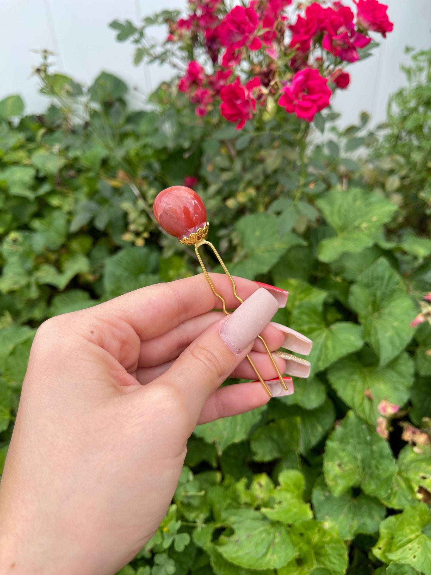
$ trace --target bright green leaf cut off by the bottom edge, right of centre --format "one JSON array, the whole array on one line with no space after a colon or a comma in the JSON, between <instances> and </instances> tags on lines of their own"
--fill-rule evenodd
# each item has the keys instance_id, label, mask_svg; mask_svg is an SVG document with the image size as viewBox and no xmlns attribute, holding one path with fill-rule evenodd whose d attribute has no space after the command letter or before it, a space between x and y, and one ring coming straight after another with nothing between
<instances>
[{"instance_id":1,"label":"bright green leaf cut off by the bottom edge, right of centre","mask_svg":"<svg viewBox=\"0 0 431 575\"><path fill-rule=\"evenodd\" d=\"M316 575L322 573L319 568L328 569L332 575L344 575L348 565L347 547L338 536L336 526L305 521L293 525L290 536L296 557L279 569L279 575Z\"/></svg>"}]
</instances>

